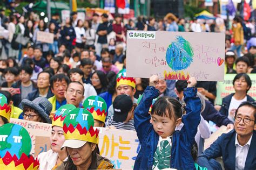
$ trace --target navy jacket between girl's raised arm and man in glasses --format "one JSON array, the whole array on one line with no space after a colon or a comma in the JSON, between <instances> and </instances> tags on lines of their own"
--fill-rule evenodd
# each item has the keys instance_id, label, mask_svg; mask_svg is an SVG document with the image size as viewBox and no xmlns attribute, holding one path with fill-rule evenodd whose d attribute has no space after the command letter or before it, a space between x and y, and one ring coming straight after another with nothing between
<instances>
[{"instance_id":1,"label":"navy jacket between girl's raised arm and man in glasses","mask_svg":"<svg viewBox=\"0 0 256 170\"><path fill-rule=\"evenodd\" d=\"M219 127L222 125L226 126L227 124L233 124L233 122L230 121L227 116L224 116L218 110L216 110L213 104L209 101L205 101L205 110L201 112L201 115L205 121L212 121Z\"/></svg>"}]
</instances>

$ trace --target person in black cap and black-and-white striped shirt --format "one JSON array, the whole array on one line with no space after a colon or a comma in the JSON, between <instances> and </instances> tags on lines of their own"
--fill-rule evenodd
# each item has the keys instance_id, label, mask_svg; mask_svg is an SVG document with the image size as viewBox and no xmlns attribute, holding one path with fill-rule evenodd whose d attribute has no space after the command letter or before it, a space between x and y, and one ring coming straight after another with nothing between
<instances>
[{"instance_id":1,"label":"person in black cap and black-and-white striped shirt","mask_svg":"<svg viewBox=\"0 0 256 170\"><path fill-rule=\"evenodd\" d=\"M119 95L114 99L114 114L106 120L106 127L114 129L135 130L133 112L137 104L133 104L128 95Z\"/></svg>"}]
</instances>

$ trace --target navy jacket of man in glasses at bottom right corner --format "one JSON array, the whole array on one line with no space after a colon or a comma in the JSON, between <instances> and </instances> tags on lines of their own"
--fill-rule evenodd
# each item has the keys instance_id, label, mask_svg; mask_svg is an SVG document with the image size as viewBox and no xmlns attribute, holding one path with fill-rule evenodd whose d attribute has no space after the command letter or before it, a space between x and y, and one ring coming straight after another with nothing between
<instances>
[{"instance_id":1,"label":"navy jacket of man in glasses at bottom right corner","mask_svg":"<svg viewBox=\"0 0 256 170\"><path fill-rule=\"evenodd\" d=\"M224 168L226 170L235 169L235 130L229 133L223 133L214 141L214 143L198 157L198 164L200 166L210 169L219 169L213 167L210 161L214 158L222 157ZM245 158L245 169L256 169L256 131L253 131L251 145Z\"/></svg>"}]
</instances>

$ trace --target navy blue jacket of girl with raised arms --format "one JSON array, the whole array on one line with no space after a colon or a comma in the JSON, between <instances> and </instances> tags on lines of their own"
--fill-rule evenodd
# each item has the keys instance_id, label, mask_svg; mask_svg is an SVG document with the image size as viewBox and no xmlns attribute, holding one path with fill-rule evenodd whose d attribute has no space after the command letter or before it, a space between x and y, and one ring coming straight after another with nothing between
<instances>
[{"instance_id":1,"label":"navy blue jacket of girl with raised arms","mask_svg":"<svg viewBox=\"0 0 256 170\"><path fill-rule=\"evenodd\" d=\"M134 169L152 169L153 155L157 148L159 136L150 123L148 111L153 98L157 98L159 94L159 90L148 86L144 91L142 100L134 111L134 127L141 144ZM191 156L191 146L194 143L197 126L201 119L201 102L196 95L197 88L184 89L187 114L182 117L183 128L172 134L171 168L196 169Z\"/></svg>"}]
</instances>

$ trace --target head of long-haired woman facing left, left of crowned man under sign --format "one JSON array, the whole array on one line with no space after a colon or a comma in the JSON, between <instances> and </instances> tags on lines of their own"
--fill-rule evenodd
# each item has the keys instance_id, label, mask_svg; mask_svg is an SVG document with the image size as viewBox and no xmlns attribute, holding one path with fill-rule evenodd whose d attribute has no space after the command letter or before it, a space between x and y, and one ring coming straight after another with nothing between
<instances>
[{"instance_id":1,"label":"head of long-haired woman facing left, left of crowned man under sign","mask_svg":"<svg viewBox=\"0 0 256 170\"><path fill-rule=\"evenodd\" d=\"M91 82L98 95L106 91L107 80L105 73L102 71L97 70L94 72L91 77Z\"/></svg>"}]
</instances>

